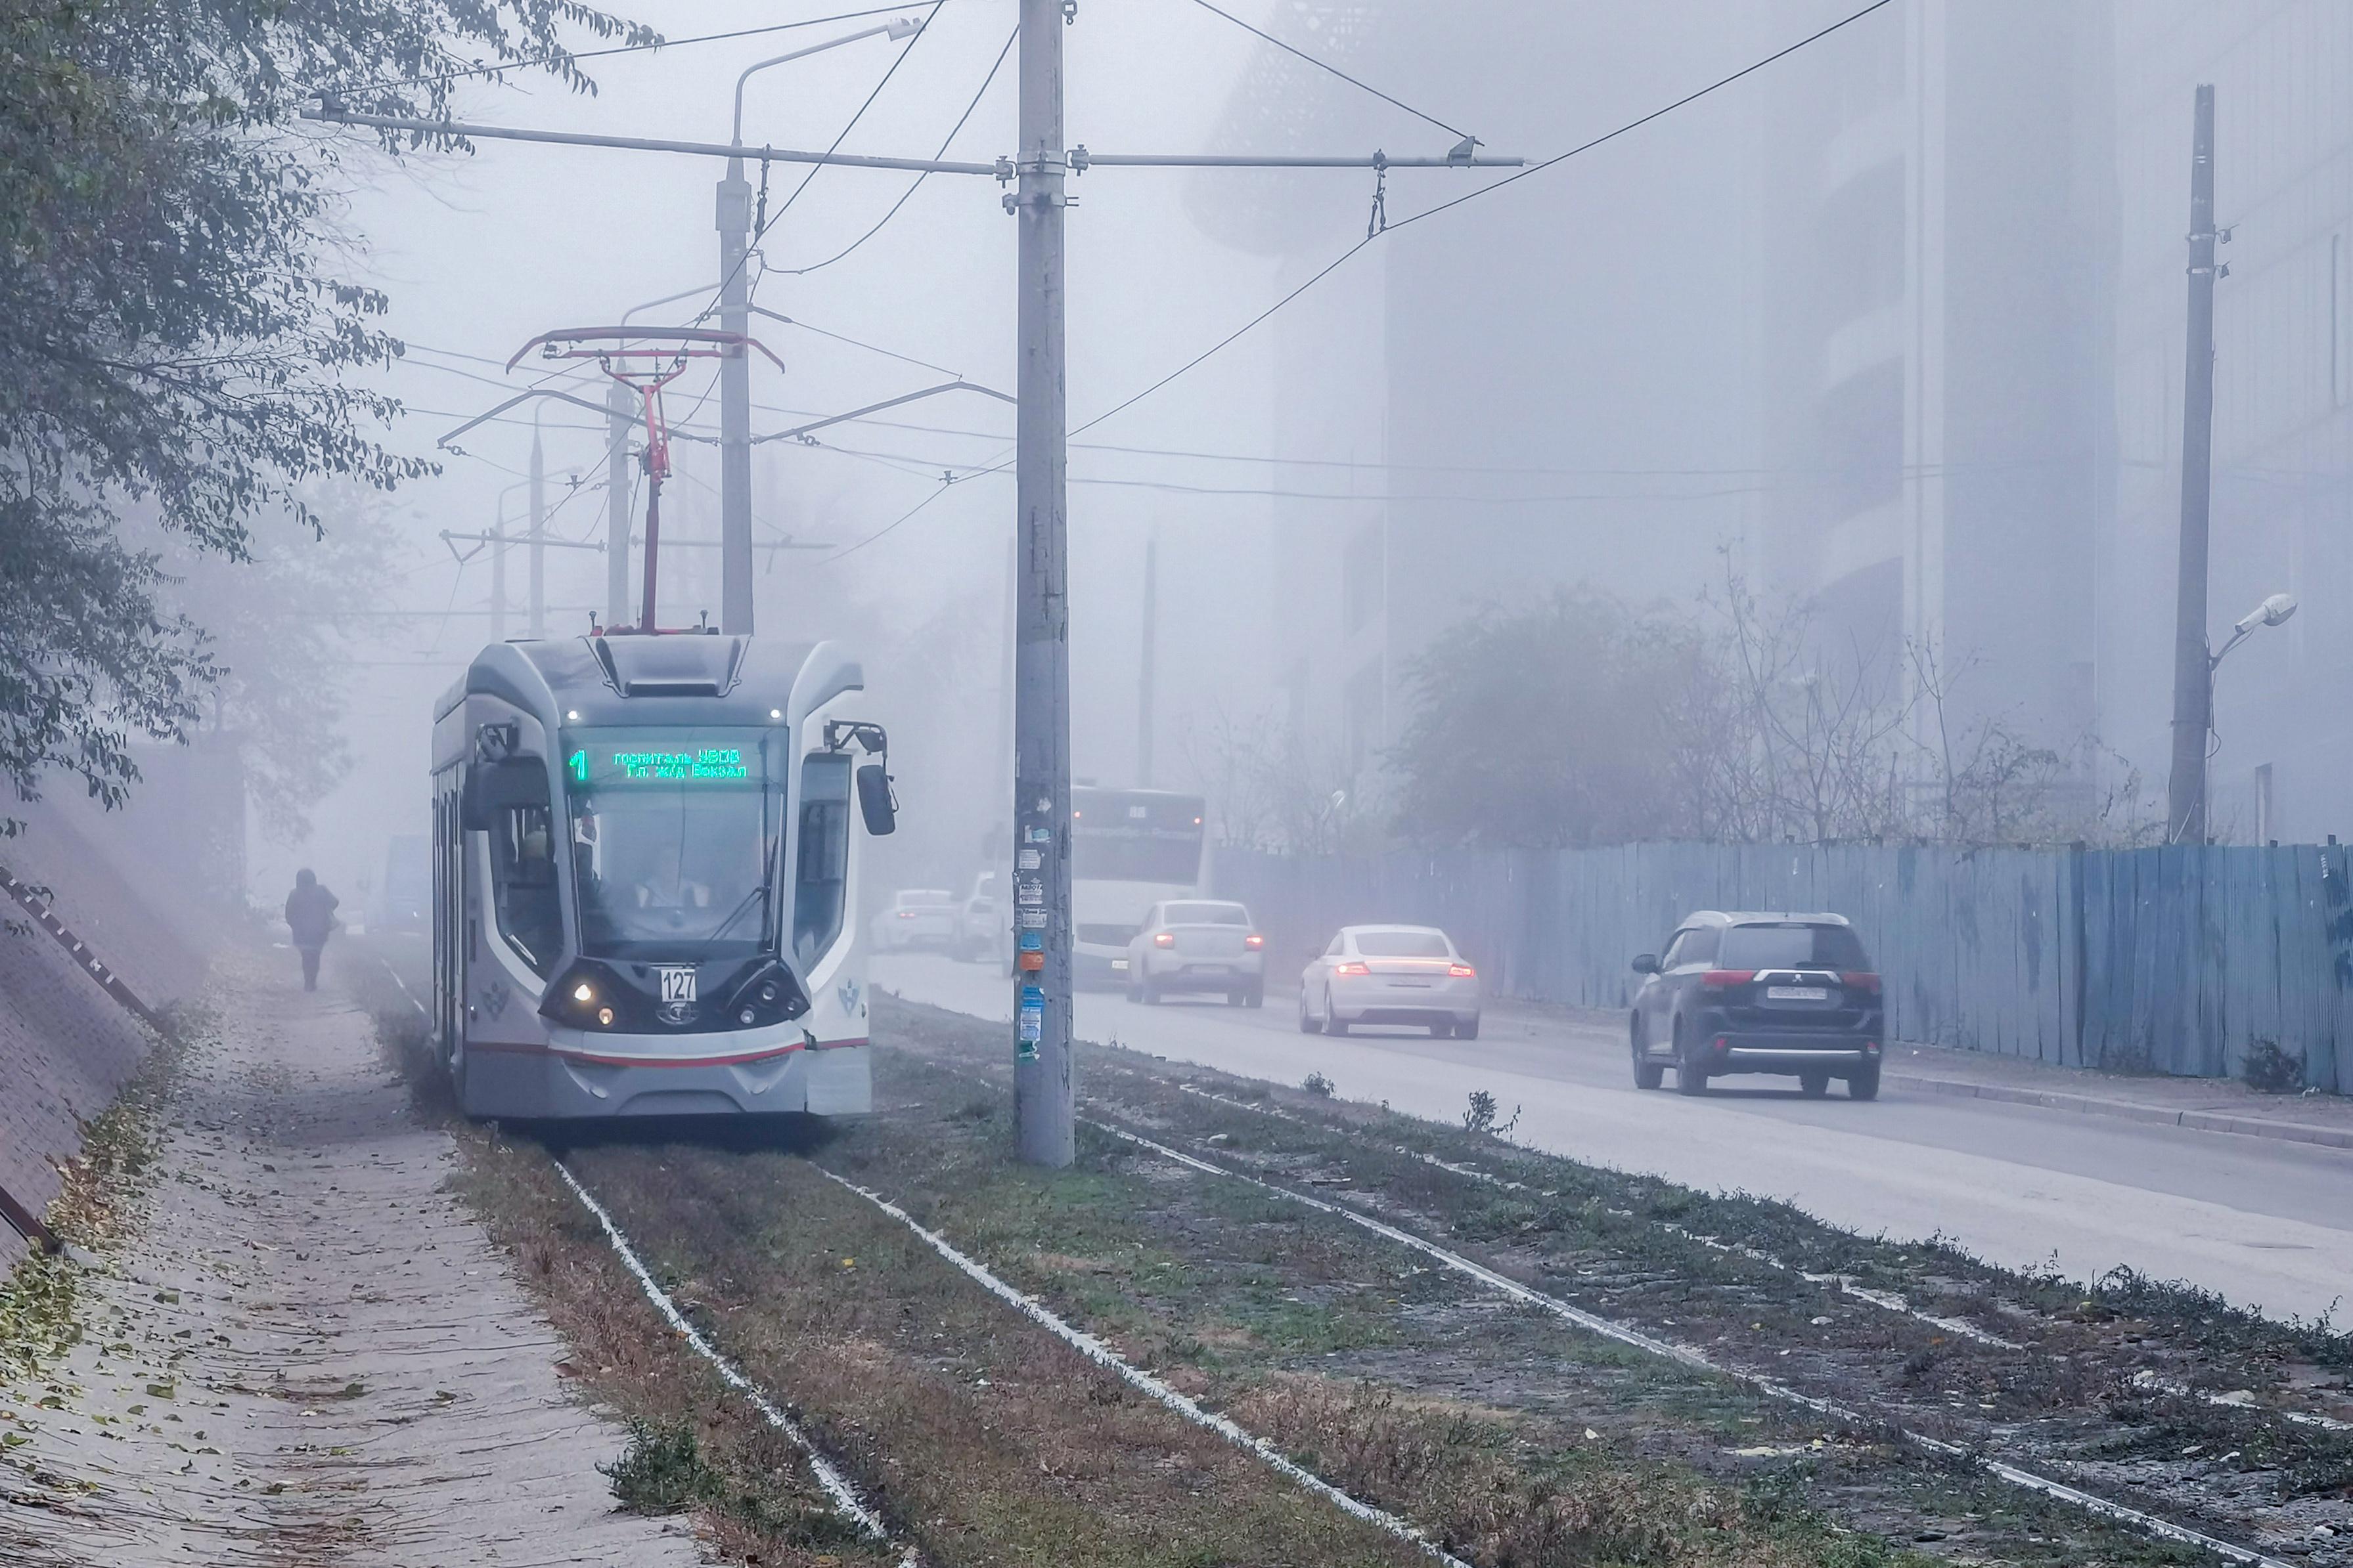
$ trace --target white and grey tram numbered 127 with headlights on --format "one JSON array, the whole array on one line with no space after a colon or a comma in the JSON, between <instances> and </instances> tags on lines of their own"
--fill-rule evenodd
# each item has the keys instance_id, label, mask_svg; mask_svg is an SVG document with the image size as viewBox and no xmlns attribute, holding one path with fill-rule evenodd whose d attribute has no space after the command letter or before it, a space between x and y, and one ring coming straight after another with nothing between
<instances>
[{"instance_id":1,"label":"white and grey tram numbered 127 with headlights on","mask_svg":"<svg viewBox=\"0 0 2353 1568\"><path fill-rule=\"evenodd\" d=\"M433 1032L468 1117L873 1105L859 832L887 736L838 644L499 642L433 708Z\"/></svg>"}]
</instances>

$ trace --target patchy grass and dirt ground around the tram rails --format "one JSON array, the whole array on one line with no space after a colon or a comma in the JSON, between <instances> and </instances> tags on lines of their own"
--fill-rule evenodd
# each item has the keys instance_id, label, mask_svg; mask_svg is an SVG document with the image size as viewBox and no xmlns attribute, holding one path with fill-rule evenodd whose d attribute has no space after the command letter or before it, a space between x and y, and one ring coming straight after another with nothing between
<instances>
[{"instance_id":1,"label":"patchy grass and dirt ground around the tram rails","mask_svg":"<svg viewBox=\"0 0 2353 1568\"><path fill-rule=\"evenodd\" d=\"M414 1034L414 1013L381 1016L388 1039ZM878 1001L875 1030L892 1048L878 1053L873 1119L769 1143L741 1128L616 1128L569 1159L696 1324L812 1427L925 1561L1421 1559L1092 1368L812 1164L882 1190L1132 1361L1482 1568L2200 1561L1927 1460L1892 1432L1840 1429L1581 1335L1341 1220L1106 1135L1082 1133L1066 1173L1014 1166L1005 1095L972 1077L1002 1077L998 1030L889 999ZM2082 1465L2108 1467L2078 1481L2146 1483L2141 1472L2155 1467L2181 1483L2195 1465L2177 1448L2217 1458L2226 1448L2169 1422L2266 1420L2120 1392L2113 1368L2073 1385L2061 1347L2097 1335L2075 1321L2080 1291L2061 1300L2049 1281L1995 1284L1939 1248L1880 1248L1777 1206L1537 1161L1492 1138L1306 1095L1289 1110L1315 1121L1273 1121L1176 1091L1179 1077L1214 1074L1129 1053L1089 1051L1082 1067L1089 1100L1115 1119L1268 1178L1351 1194L1579 1305L1809 1392L1868 1394L1868 1408L1962 1441L2005 1436L2035 1410L2049 1425L2073 1422ZM1231 1079L1219 1091L1266 1093ZM640 1505L694 1507L736 1561L873 1556L838 1530L824 1535L831 1519L798 1458L659 1326L546 1152L459 1133L468 1197L572 1340L572 1368L642 1425L616 1467L621 1488ZM1539 1192L1452 1178L1395 1154L1405 1143ZM1922 1305L1998 1324L2033 1345L2031 1366L2019 1371L2009 1352L1979 1361L1988 1347L1711 1251L1664 1222L1772 1246L1807 1267L1835 1262L1885 1288L1948 1281ZM2132 1302L2146 1307L2141 1295ZM2179 1319L2127 1319L2118 1298L2099 1305L2094 1326L2111 1338L2127 1321L2158 1340L2179 1328ZM2280 1366L2329 1363L2327 1335L2289 1342L2259 1321L2226 1328ZM1864 1363L1892 1371L1866 1387ZM1887 1389L1911 1392L1882 1399ZM2134 1403L2146 1420L2118 1413ZM2134 1434L2144 1450L2129 1448ZM2125 1448L2089 1453L2099 1443ZM2242 1458L2231 1453L2233 1465ZM2148 1490L2165 1502L2162 1488ZM2337 1497L2322 1488L2308 1502ZM2167 1512L2221 1533L2247 1523Z\"/></svg>"}]
</instances>

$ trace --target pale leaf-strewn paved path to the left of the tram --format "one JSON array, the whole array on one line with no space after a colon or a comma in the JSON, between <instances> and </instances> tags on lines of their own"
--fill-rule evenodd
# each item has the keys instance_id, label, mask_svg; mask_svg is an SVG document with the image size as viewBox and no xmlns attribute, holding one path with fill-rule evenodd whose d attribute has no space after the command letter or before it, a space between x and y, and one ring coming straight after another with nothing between
<instances>
[{"instance_id":1,"label":"pale leaf-strewn paved path to the left of the tram","mask_svg":"<svg viewBox=\"0 0 2353 1568\"><path fill-rule=\"evenodd\" d=\"M442 1192L344 997L224 954L148 1225L87 1281L85 1342L0 1387L0 1561L24 1568L666 1568L682 1528L612 1512L621 1434Z\"/></svg>"}]
</instances>

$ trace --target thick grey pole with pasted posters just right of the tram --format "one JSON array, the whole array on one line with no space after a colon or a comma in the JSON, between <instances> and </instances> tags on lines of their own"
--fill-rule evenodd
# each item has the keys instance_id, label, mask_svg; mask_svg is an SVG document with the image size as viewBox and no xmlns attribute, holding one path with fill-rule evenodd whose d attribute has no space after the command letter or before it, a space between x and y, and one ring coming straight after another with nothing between
<instances>
[{"instance_id":1,"label":"thick grey pole with pasted posters just right of the tram","mask_svg":"<svg viewBox=\"0 0 2353 1568\"><path fill-rule=\"evenodd\" d=\"M1061 0L1021 0L1019 223L1021 397L1014 515L1021 555L1014 646L1014 1143L1068 1166L1071 1081L1071 599L1064 414Z\"/></svg>"}]
</instances>

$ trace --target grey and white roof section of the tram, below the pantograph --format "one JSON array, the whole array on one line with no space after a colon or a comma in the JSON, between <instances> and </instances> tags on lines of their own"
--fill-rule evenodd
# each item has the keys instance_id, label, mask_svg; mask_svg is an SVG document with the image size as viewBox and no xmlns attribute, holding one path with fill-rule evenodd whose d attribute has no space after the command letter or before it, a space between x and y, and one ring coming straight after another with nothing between
<instances>
[{"instance_id":1,"label":"grey and white roof section of the tram, below the pantograph","mask_svg":"<svg viewBox=\"0 0 2353 1568\"><path fill-rule=\"evenodd\" d=\"M496 696L579 724L798 724L842 691L864 689L838 642L706 632L494 642L433 705L440 719L468 696ZM579 719L572 719L579 715Z\"/></svg>"}]
</instances>

